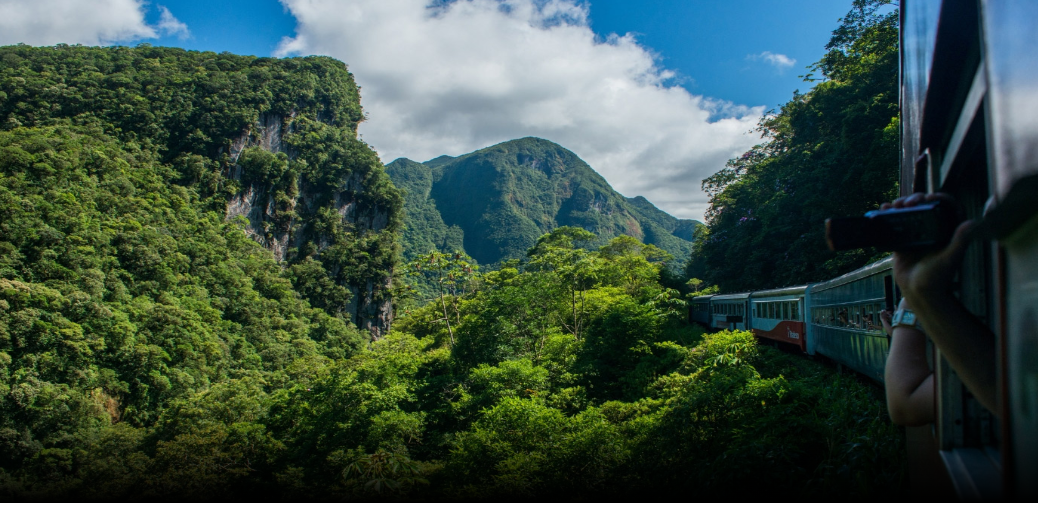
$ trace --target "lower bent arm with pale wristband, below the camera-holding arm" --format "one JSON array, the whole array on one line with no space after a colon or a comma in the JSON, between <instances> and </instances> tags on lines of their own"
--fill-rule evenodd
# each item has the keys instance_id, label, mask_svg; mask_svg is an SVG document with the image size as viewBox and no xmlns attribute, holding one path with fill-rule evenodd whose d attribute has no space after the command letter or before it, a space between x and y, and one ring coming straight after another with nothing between
<instances>
[{"instance_id":1,"label":"lower bent arm with pale wristband, below the camera-holding arm","mask_svg":"<svg viewBox=\"0 0 1038 513\"><path fill-rule=\"evenodd\" d=\"M901 307L907 307L902 299ZM891 313L882 312L879 319L883 331L891 335L891 354L883 370L886 410L891 421L900 426L924 426L934 421L933 372L926 361L926 334L899 326L892 330Z\"/></svg>"}]
</instances>

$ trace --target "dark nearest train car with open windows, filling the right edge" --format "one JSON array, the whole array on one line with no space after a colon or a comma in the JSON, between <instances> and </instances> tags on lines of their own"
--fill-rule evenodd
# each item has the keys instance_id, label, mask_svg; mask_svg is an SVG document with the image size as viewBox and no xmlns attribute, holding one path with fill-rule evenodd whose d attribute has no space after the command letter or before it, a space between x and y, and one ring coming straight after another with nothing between
<instances>
[{"instance_id":1,"label":"dark nearest train car with open windows, filling the right edge","mask_svg":"<svg viewBox=\"0 0 1038 513\"><path fill-rule=\"evenodd\" d=\"M1038 2L901 0L900 15L901 194L951 194L981 221L983 237L966 250L955 294L994 334L994 356L973 363L989 366L996 381L989 411L934 344L936 422L908 431L909 468L923 468L909 479L932 486L931 497L1033 502ZM929 456L920 450L927 446Z\"/></svg>"}]
</instances>

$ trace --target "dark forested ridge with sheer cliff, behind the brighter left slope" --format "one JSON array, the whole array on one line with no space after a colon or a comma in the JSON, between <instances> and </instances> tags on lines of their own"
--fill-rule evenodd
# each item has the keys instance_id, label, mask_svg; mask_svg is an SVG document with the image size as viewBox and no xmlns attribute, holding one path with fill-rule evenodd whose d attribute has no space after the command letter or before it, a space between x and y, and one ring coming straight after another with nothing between
<instances>
[{"instance_id":1,"label":"dark forested ridge with sheer cliff, behind the brighter left slope","mask_svg":"<svg viewBox=\"0 0 1038 513\"><path fill-rule=\"evenodd\" d=\"M379 334L401 198L357 139L362 119L353 77L327 57L0 49L0 128L97 127L153 152L203 210L243 216L311 304Z\"/></svg>"}]
</instances>

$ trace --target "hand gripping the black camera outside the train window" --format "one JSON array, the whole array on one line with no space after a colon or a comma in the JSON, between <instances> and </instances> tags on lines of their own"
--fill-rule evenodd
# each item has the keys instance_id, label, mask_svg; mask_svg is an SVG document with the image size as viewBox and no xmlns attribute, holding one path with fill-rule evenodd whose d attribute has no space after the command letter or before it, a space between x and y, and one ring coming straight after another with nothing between
<instances>
[{"instance_id":1,"label":"hand gripping the black camera outside the train window","mask_svg":"<svg viewBox=\"0 0 1038 513\"><path fill-rule=\"evenodd\" d=\"M945 193L917 192L893 203L883 204L879 210L903 209L931 201L955 204L954 198ZM925 299L930 295L951 292L952 280L962 263L975 225L974 221L959 224L951 242L943 249L894 252L894 279L901 287L905 297Z\"/></svg>"}]
</instances>

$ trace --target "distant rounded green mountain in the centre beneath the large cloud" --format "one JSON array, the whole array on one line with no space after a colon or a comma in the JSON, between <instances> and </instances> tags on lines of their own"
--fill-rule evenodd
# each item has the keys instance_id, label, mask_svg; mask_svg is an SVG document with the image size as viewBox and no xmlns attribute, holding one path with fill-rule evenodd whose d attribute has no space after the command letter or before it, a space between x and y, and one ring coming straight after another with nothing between
<instances>
[{"instance_id":1,"label":"distant rounded green mountain in the centre beneath the large cloud","mask_svg":"<svg viewBox=\"0 0 1038 513\"><path fill-rule=\"evenodd\" d=\"M654 244L678 269L698 224L641 196L624 197L576 154L536 137L425 163L398 159L386 172L407 191L405 259L464 249L493 265L524 256L541 235L569 225L597 235L594 244L620 235Z\"/></svg>"}]
</instances>

